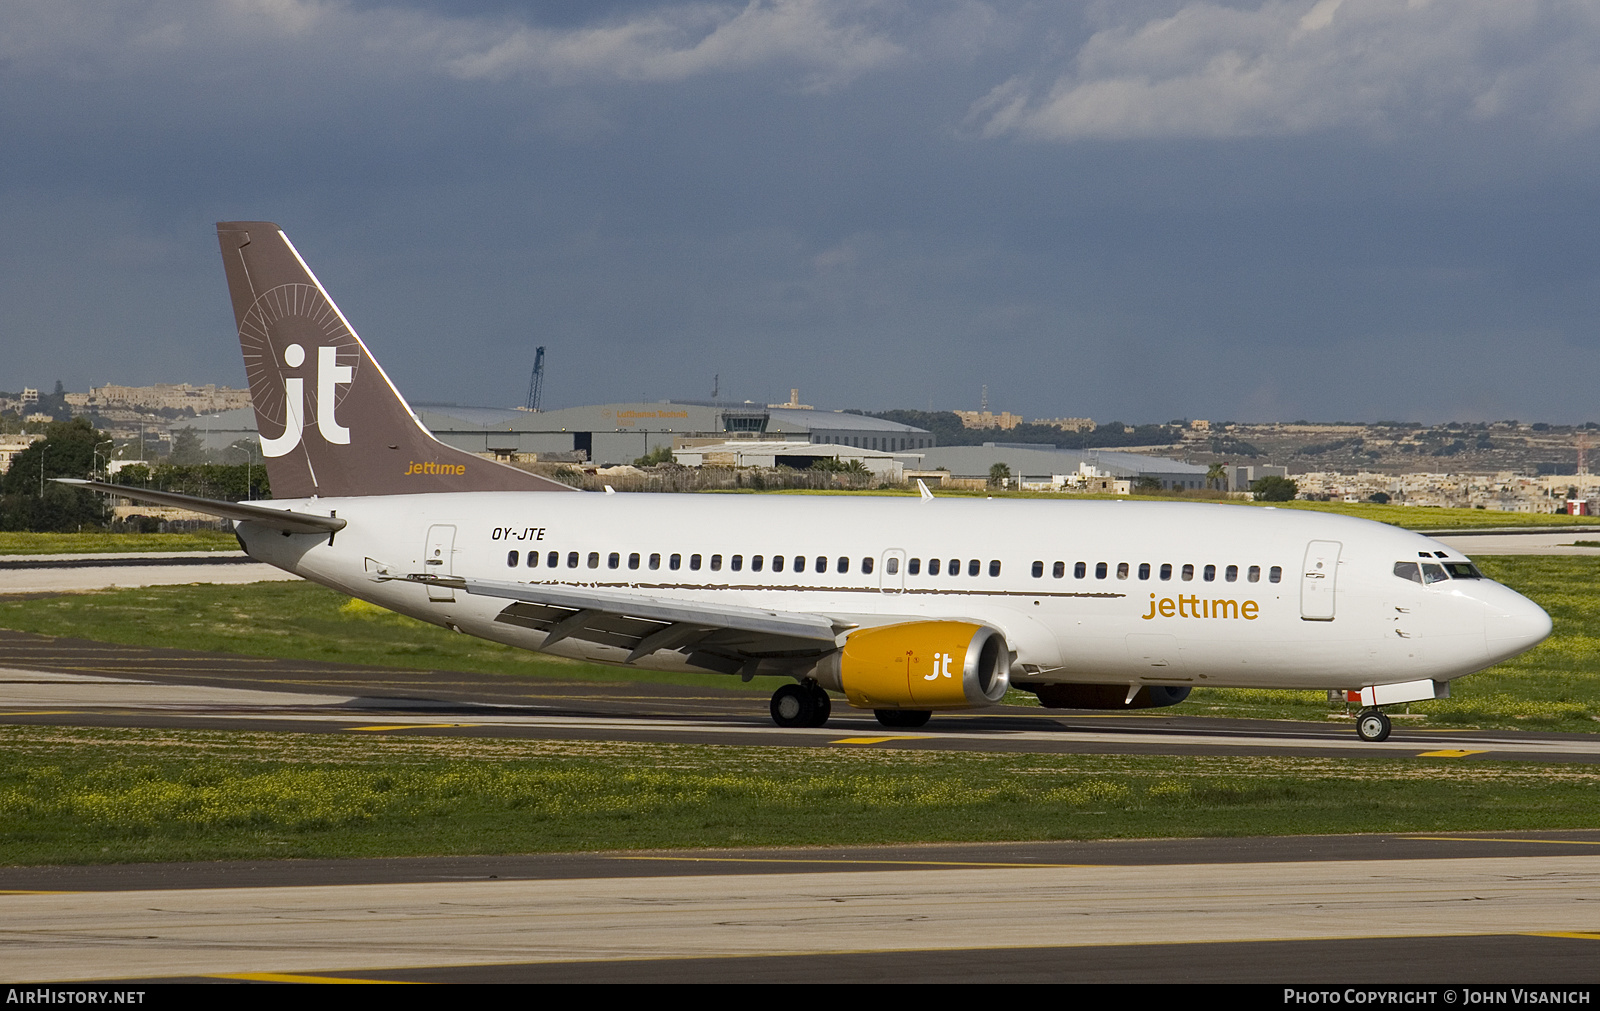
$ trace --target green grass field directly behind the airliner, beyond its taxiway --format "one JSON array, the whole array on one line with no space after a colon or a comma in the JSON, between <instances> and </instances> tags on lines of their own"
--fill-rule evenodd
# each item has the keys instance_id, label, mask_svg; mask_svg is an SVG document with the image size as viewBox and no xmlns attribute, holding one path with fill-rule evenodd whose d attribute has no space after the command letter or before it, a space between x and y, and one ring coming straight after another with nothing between
<instances>
[{"instance_id":1,"label":"green grass field directly behind the airliner, beyond its taxiway","mask_svg":"<svg viewBox=\"0 0 1600 1011\"><path fill-rule=\"evenodd\" d=\"M1555 633L1536 649L1453 683L1453 697L1389 712L1402 726L1522 726L1600 731L1600 558L1485 557L1494 579L1544 606ZM715 673L658 673L581 664L456 635L309 582L178 585L3 600L0 627L141 646L278 656L554 680L627 680L770 693ZM1010 702L1032 694L1013 691ZM1197 689L1162 713L1278 720L1339 718L1320 691Z\"/></svg>"}]
</instances>

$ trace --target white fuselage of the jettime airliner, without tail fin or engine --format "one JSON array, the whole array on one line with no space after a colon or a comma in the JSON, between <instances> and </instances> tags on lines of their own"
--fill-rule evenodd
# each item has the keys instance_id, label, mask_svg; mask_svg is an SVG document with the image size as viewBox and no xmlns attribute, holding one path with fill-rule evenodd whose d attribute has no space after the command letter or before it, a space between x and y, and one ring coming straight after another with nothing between
<instances>
[{"instance_id":1,"label":"white fuselage of the jettime airliner, without tail fin or engine","mask_svg":"<svg viewBox=\"0 0 1600 1011\"><path fill-rule=\"evenodd\" d=\"M546 493L274 506L333 512L349 526L328 537L242 523L240 537L256 558L394 611L528 649L539 649L546 633L498 622L504 600L379 582L371 574L387 566L637 590L858 625L976 621L1003 632L1016 654L1013 681L1024 686L1358 689L1446 681L1515 656L1550 630L1542 609L1493 581L1421 584L1395 574L1397 563L1466 561L1437 541L1288 509ZM531 568L530 552L538 555ZM781 569L774 557L782 558ZM931 560L938 574L930 574ZM958 574L950 573L952 560ZM622 662L629 653L576 638L550 651L598 662ZM685 656L670 649L638 665L688 669Z\"/></svg>"}]
</instances>

